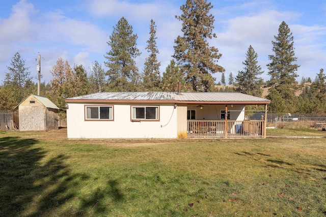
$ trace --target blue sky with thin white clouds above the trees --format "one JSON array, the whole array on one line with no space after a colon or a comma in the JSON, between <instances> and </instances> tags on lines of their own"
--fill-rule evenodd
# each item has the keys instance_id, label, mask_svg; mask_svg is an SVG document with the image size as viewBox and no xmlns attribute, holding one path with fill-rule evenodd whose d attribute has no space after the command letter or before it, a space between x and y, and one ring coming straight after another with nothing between
<instances>
[{"instance_id":1,"label":"blue sky with thin white clouds above the trees","mask_svg":"<svg viewBox=\"0 0 326 217\"><path fill-rule=\"evenodd\" d=\"M37 82L36 61L41 54L42 81L49 82L50 70L58 58L68 60L71 67L82 64L89 67L96 60L104 67L106 44L113 26L124 16L138 35L142 55L135 59L140 72L148 52L150 20L157 26L158 61L160 72L165 72L173 54L174 40L181 35L180 6L185 0L0 0L0 83L7 66L16 52L30 67L33 81ZM271 41L278 34L284 20L294 37L298 81L302 76L314 79L319 69L326 69L326 2L319 0L220 0L211 1L210 11L215 22L217 38L209 43L219 49L219 64L235 77L243 69L242 61L250 45L258 54L258 64L268 80L266 64L273 54ZM221 73L213 75L216 82Z\"/></svg>"}]
</instances>

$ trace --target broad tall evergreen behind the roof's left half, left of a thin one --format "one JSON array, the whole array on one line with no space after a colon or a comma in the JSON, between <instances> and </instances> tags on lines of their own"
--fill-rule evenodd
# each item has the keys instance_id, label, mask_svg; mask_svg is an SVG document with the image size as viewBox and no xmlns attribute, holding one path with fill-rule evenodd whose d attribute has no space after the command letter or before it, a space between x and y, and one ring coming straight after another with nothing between
<instances>
[{"instance_id":1,"label":"broad tall evergreen behind the roof's left half, left of a thin one","mask_svg":"<svg viewBox=\"0 0 326 217\"><path fill-rule=\"evenodd\" d=\"M113 27L110 41L111 50L104 56L107 61L108 85L115 91L135 91L138 88L139 72L134 58L140 56L137 48L137 34L133 34L132 26L122 17Z\"/></svg>"}]
</instances>

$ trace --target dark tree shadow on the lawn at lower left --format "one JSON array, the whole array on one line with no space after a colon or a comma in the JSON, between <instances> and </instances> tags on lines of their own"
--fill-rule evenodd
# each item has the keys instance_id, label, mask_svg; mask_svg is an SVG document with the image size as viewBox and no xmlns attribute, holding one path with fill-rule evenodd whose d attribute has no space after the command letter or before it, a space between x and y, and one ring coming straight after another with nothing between
<instances>
[{"instance_id":1,"label":"dark tree shadow on the lawn at lower left","mask_svg":"<svg viewBox=\"0 0 326 217\"><path fill-rule=\"evenodd\" d=\"M71 174L65 154L44 162L47 151L34 147L37 143L36 139L0 138L0 216L101 214L107 211L104 197L110 195L113 201L123 198L116 181L109 181L106 189L97 189L86 198L77 198L83 181L90 177ZM81 204L73 202L76 199Z\"/></svg>"}]
</instances>

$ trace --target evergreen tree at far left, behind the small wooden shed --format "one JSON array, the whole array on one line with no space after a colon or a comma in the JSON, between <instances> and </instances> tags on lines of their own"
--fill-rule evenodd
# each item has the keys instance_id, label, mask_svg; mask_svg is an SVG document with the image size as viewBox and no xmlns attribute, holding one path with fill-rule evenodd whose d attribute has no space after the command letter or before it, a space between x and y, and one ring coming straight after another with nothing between
<instances>
[{"instance_id":1,"label":"evergreen tree at far left, behind the small wooden shed","mask_svg":"<svg viewBox=\"0 0 326 217\"><path fill-rule=\"evenodd\" d=\"M21 58L18 52L11 59L11 64L9 67L7 66L7 69L9 72L5 75L4 85L8 88L5 89L12 92L13 102L17 105L25 97L32 94L27 92L32 79L30 77L31 72L28 67L25 67L25 60Z\"/></svg>"}]
</instances>

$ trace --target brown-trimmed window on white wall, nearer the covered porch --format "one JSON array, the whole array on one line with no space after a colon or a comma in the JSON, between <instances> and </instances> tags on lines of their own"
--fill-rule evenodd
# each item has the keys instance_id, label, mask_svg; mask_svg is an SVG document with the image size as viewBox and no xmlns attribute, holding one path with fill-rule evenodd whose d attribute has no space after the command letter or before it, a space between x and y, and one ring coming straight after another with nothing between
<instances>
[{"instance_id":1,"label":"brown-trimmed window on white wall, nearer the covered porch","mask_svg":"<svg viewBox=\"0 0 326 217\"><path fill-rule=\"evenodd\" d=\"M158 120L158 106L131 107L131 119Z\"/></svg>"}]
</instances>

